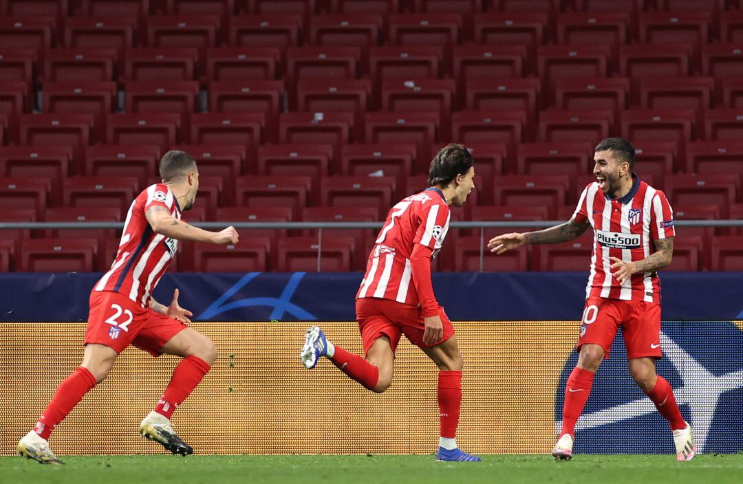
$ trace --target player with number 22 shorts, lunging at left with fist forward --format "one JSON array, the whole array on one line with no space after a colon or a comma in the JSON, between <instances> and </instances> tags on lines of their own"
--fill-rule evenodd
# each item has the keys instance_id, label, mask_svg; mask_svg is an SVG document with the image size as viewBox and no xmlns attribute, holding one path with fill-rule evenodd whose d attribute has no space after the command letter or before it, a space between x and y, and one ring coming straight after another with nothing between
<instances>
[{"instance_id":1,"label":"player with number 22 shorts, lunging at left with fist forward","mask_svg":"<svg viewBox=\"0 0 743 484\"><path fill-rule=\"evenodd\" d=\"M196 162L184 151L160 160L162 183L149 186L129 206L116 259L94 286L85 330L82 364L56 389L36 426L18 442L18 452L42 464L61 464L49 448L51 431L97 383L103 381L129 344L152 356L183 357L155 409L140 423L140 434L173 454L193 454L175 435L170 417L201 382L217 357L212 341L187 327L192 313L178 304L152 298L160 277L175 257L179 241L237 243L233 227L207 232L181 220L198 191Z\"/></svg>"}]
</instances>

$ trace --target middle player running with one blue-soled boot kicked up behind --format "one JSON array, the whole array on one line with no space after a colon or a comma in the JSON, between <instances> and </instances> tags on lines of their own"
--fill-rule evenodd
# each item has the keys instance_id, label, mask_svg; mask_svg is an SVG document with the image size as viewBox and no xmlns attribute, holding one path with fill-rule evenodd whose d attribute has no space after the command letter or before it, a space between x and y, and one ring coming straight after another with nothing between
<instances>
[{"instance_id":1,"label":"middle player running with one blue-soled boot kicked up behind","mask_svg":"<svg viewBox=\"0 0 743 484\"><path fill-rule=\"evenodd\" d=\"M431 261L449 230L449 206L464 204L475 188L473 177L473 158L467 148L447 145L431 162L430 188L406 197L387 214L356 295L366 359L332 344L317 326L307 330L299 356L308 369L325 356L367 390L382 393L392 385L395 350L404 334L439 369L441 438L436 460L480 460L457 448L462 356L431 283Z\"/></svg>"}]
</instances>

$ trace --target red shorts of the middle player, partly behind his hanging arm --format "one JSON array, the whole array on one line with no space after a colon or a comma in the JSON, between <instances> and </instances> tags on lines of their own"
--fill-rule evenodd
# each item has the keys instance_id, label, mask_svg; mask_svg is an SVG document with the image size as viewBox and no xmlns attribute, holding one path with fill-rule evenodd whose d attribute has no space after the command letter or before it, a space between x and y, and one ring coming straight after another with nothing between
<instances>
[{"instance_id":1,"label":"red shorts of the middle player, partly behind his hanging arm","mask_svg":"<svg viewBox=\"0 0 743 484\"><path fill-rule=\"evenodd\" d=\"M438 315L441 317L441 324L444 325L444 336L434 344L425 344L423 342L424 317L420 307L402 304L392 299L357 299L356 321L359 323L361 339L364 342L364 354L369 353L371 344L374 344L380 336L389 338L393 353L398 348L401 334L404 334L408 341L419 348L429 348L447 341L454 336L454 327L441 306L438 307Z\"/></svg>"}]
</instances>

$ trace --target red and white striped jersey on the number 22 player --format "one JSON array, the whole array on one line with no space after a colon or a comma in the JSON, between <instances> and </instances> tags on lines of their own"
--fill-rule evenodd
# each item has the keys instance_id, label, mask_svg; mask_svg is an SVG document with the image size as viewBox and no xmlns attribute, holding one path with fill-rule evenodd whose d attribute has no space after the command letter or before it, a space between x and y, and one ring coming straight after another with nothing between
<instances>
[{"instance_id":1,"label":"red and white striped jersey on the number 22 player","mask_svg":"<svg viewBox=\"0 0 743 484\"><path fill-rule=\"evenodd\" d=\"M142 307L149 307L150 294L178 250L177 240L152 230L145 214L153 206L163 206L181 220L178 200L164 183L151 185L137 195L126 214L116 258L94 291L119 292Z\"/></svg>"}]
</instances>

